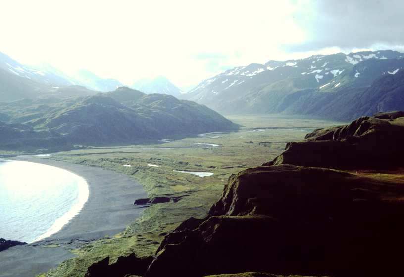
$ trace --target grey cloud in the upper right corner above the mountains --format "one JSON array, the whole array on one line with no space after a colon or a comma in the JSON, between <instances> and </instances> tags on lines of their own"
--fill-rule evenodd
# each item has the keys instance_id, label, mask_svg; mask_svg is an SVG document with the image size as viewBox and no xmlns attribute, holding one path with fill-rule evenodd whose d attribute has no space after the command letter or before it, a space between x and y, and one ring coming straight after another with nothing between
<instances>
[{"instance_id":1,"label":"grey cloud in the upper right corner above the mountains","mask_svg":"<svg viewBox=\"0 0 404 277\"><path fill-rule=\"evenodd\" d=\"M317 51L338 47L404 50L404 2L400 0L310 1L295 14L296 24L307 32L307 40L284 44L288 52Z\"/></svg>"}]
</instances>

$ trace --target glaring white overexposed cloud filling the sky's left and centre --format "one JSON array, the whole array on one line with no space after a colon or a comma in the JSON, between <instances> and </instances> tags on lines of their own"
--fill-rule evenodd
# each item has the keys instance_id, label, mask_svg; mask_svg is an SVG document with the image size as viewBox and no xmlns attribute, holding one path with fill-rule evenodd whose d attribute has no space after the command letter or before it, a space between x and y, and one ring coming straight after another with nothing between
<instances>
[{"instance_id":1,"label":"glaring white overexposed cloud filling the sky's left and centre","mask_svg":"<svg viewBox=\"0 0 404 277\"><path fill-rule=\"evenodd\" d=\"M226 66L265 63L278 43L303 41L291 18L296 8L288 1L7 1L0 51L128 85L164 75L182 86ZM206 61L192 59L201 52L229 59L208 72Z\"/></svg>"}]
</instances>

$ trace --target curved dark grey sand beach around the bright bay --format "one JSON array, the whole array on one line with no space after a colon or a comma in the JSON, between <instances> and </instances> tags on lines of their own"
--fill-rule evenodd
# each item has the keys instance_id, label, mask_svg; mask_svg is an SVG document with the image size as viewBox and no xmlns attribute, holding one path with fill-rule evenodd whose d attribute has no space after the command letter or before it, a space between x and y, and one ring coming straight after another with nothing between
<instances>
[{"instance_id":1,"label":"curved dark grey sand beach around the bright bay","mask_svg":"<svg viewBox=\"0 0 404 277\"><path fill-rule=\"evenodd\" d=\"M69 249L124 231L144 210L144 207L135 206L133 202L137 198L147 197L146 192L142 185L124 174L40 157L18 157L13 160L36 162L73 172L86 180L90 194L80 213L57 233L44 240L0 252L0 277L35 277L36 274L47 272L63 260L74 257ZM50 244L59 247L44 248Z\"/></svg>"}]
</instances>

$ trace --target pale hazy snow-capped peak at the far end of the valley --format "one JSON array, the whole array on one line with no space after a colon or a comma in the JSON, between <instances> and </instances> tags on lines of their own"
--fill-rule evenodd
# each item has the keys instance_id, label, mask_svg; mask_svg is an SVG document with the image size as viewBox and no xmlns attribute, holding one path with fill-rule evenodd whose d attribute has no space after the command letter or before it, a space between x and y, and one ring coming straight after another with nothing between
<instances>
[{"instance_id":1,"label":"pale hazy snow-capped peak at the far end of the valley","mask_svg":"<svg viewBox=\"0 0 404 277\"><path fill-rule=\"evenodd\" d=\"M134 83L131 88L139 90L146 94L160 93L173 95L175 97L181 95L181 90L178 89L174 84L170 82L170 80L168 80L164 76L159 76L155 79L141 79L138 82Z\"/></svg>"}]
</instances>

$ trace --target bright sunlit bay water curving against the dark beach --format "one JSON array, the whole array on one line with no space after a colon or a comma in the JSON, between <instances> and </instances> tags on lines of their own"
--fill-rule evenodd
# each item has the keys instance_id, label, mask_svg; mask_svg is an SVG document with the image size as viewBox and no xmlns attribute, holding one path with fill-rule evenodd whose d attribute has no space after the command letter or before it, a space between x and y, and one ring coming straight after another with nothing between
<instances>
[{"instance_id":1,"label":"bright sunlit bay water curving against the dark beach","mask_svg":"<svg viewBox=\"0 0 404 277\"><path fill-rule=\"evenodd\" d=\"M67 170L0 161L0 237L34 242L59 231L89 195L86 181Z\"/></svg>"}]
</instances>

